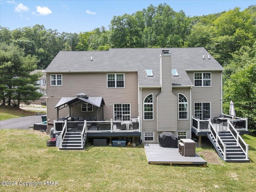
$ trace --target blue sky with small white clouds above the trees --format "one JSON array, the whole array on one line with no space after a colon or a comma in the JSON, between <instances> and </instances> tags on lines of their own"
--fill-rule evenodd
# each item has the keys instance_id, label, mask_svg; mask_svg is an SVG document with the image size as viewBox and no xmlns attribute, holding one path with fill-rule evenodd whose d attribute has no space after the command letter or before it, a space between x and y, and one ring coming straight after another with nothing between
<instances>
[{"instance_id":1,"label":"blue sky with small white clouds above the trees","mask_svg":"<svg viewBox=\"0 0 256 192\"><path fill-rule=\"evenodd\" d=\"M80 33L104 26L114 16L133 14L150 4L168 4L186 16L202 16L255 5L256 0L0 0L0 26L9 30L44 25L58 32Z\"/></svg>"}]
</instances>

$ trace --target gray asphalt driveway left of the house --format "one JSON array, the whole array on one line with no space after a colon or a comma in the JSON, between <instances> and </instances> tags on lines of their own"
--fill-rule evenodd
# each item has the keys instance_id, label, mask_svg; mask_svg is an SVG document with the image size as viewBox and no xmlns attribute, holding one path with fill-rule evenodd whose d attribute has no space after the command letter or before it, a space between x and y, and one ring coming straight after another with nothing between
<instances>
[{"instance_id":1,"label":"gray asphalt driveway left of the house","mask_svg":"<svg viewBox=\"0 0 256 192\"><path fill-rule=\"evenodd\" d=\"M29 126L42 122L41 115L12 118L0 121L0 129L30 129Z\"/></svg>"}]
</instances>

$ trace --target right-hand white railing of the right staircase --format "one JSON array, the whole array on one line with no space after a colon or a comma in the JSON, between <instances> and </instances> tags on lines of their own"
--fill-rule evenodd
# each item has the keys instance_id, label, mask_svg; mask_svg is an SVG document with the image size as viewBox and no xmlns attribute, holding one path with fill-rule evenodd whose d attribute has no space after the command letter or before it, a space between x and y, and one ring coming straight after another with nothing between
<instances>
[{"instance_id":1,"label":"right-hand white railing of the right staircase","mask_svg":"<svg viewBox=\"0 0 256 192\"><path fill-rule=\"evenodd\" d=\"M249 158L249 145L246 144L246 142L243 140L243 138L240 136L239 132L234 128L232 122L228 120L228 129L230 130L231 134L234 136L234 139L236 140L236 145L240 146L246 156L246 159Z\"/></svg>"}]
</instances>

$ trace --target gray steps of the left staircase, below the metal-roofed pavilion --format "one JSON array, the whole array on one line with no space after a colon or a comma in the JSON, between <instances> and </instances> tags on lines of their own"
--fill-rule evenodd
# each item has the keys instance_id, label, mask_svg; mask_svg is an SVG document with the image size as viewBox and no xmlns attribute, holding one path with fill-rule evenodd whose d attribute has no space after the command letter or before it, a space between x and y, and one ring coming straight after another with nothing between
<instances>
[{"instance_id":1,"label":"gray steps of the left staircase, below the metal-roofed pavilion","mask_svg":"<svg viewBox=\"0 0 256 192\"><path fill-rule=\"evenodd\" d=\"M77 132L66 132L63 140L62 146L60 146L60 150L84 150L84 145L86 141L86 135L82 139L81 138L82 131Z\"/></svg>"}]
</instances>

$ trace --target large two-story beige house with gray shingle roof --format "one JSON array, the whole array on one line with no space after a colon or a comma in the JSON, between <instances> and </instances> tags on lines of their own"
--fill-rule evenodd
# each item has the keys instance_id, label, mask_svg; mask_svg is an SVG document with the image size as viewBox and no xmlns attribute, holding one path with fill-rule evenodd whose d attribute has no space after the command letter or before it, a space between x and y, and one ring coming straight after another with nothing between
<instances>
[{"instance_id":1,"label":"large two-story beige house with gray shingle roof","mask_svg":"<svg viewBox=\"0 0 256 192\"><path fill-rule=\"evenodd\" d=\"M197 125L222 114L223 70L202 47L60 51L45 70L48 124L60 117L95 117L110 127L90 130L87 118L83 134L108 142L132 137L157 144L162 132L178 139L192 132L201 136ZM138 122L136 129L131 120ZM118 122L127 129L118 129ZM67 125L63 120L62 134Z\"/></svg>"}]
</instances>

